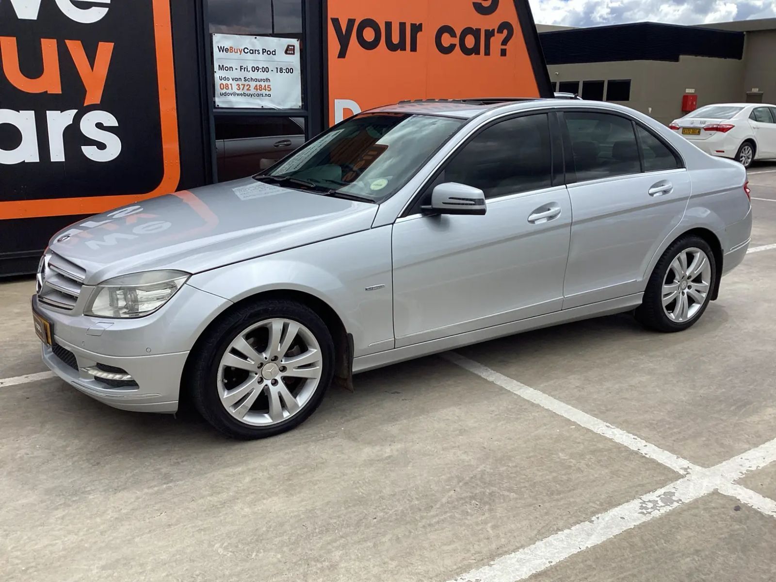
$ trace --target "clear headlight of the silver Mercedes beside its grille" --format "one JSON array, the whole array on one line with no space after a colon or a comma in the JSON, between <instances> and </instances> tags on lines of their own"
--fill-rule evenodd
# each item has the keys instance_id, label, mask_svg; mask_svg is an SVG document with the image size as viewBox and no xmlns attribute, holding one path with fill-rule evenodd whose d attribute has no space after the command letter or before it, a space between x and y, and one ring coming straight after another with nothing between
<instances>
[{"instance_id":1,"label":"clear headlight of the silver Mercedes beside its grille","mask_svg":"<svg viewBox=\"0 0 776 582\"><path fill-rule=\"evenodd\" d=\"M92 292L85 315L143 317L170 300L189 279L182 271L147 271L103 281Z\"/></svg>"}]
</instances>

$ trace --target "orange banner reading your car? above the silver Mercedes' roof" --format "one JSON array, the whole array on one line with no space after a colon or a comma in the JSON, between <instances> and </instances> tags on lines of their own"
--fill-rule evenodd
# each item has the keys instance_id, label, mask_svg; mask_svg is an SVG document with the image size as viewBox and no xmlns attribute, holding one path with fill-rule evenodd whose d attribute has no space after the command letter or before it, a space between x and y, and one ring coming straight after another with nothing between
<instances>
[{"instance_id":1,"label":"orange banner reading your car? above the silver Mercedes' roof","mask_svg":"<svg viewBox=\"0 0 776 582\"><path fill-rule=\"evenodd\" d=\"M527 0L327 6L332 125L403 99L550 96Z\"/></svg>"}]
</instances>

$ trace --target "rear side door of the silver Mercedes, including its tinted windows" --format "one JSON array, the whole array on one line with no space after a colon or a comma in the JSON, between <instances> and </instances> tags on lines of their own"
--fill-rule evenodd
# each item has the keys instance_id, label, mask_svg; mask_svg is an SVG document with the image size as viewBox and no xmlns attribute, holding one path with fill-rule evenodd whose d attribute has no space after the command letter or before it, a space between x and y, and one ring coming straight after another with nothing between
<instances>
[{"instance_id":1,"label":"rear side door of the silver Mercedes, including its tinted windows","mask_svg":"<svg viewBox=\"0 0 776 582\"><path fill-rule=\"evenodd\" d=\"M640 293L650 260L684 216L688 172L671 147L625 116L567 111L563 120L573 169L563 309Z\"/></svg>"}]
</instances>

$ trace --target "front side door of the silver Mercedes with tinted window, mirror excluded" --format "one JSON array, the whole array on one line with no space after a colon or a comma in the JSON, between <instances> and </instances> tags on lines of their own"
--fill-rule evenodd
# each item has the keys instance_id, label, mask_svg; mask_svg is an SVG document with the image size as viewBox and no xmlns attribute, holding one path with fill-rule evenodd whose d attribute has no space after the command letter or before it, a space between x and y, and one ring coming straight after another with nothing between
<instances>
[{"instance_id":1,"label":"front side door of the silver Mercedes with tinted window, mirror excluded","mask_svg":"<svg viewBox=\"0 0 776 582\"><path fill-rule=\"evenodd\" d=\"M475 133L394 224L397 348L561 309L571 207L549 122L532 114ZM482 189L487 213L420 213L443 182Z\"/></svg>"}]
</instances>

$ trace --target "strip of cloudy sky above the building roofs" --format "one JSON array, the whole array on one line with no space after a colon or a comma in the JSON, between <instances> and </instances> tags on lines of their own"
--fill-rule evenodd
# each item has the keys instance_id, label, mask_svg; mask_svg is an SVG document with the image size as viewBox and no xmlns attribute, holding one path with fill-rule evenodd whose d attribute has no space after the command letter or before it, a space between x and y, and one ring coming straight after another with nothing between
<instances>
[{"instance_id":1,"label":"strip of cloudy sky above the building roofs","mask_svg":"<svg viewBox=\"0 0 776 582\"><path fill-rule=\"evenodd\" d=\"M700 24L773 18L776 0L529 0L541 24L602 26L650 20Z\"/></svg>"}]
</instances>

